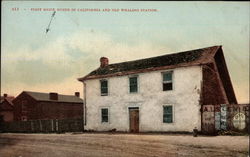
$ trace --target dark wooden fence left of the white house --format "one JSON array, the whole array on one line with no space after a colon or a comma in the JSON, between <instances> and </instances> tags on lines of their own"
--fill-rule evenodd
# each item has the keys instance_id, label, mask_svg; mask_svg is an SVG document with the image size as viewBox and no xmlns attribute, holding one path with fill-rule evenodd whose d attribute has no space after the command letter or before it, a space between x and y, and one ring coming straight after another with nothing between
<instances>
[{"instance_id":1,"label":"dark wooden fence left of the white house","mask_svg":"<svg viewBox=\"0 0 250 157\"><path fill-rule=\"evenodd\" d=\"M62 132L82 132L82 119L51 119L51 120L30 120L2 122L1 132L28 132L28 133L62 133Z\"/></svg>"}]
</instances>

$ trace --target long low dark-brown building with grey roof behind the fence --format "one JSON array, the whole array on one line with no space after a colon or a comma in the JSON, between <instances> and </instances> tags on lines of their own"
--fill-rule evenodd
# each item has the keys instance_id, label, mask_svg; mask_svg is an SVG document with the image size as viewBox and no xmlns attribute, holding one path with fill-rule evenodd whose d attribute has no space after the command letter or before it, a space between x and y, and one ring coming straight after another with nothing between
<instances>
[{"instance_id":1,"label":"long low dark-brown building with grey roof behind the fence","mask_svg":"<svg viewBox=\"0 0 250 157\"><path fill-rule=\"evenodd\" d=\"M23 91L14 100L14 120L82 118L83 100L75 95Z\"/></svg>"}]
</instances>

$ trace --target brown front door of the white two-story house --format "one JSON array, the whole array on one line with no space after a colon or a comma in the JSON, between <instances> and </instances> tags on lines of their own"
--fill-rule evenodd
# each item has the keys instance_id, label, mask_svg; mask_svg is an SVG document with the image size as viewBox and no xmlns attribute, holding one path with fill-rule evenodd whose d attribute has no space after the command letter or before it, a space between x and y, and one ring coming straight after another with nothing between
<instances>
[{"instance_id":1,"label":"brown front door of the white two-story house","mask_svg":"<svg viewBox=\"0 0 250 157\"><path fill-rule=\"evenodd\" d=\"M130 132L139 132L139 108L129 108L129 130Z\"/></svg>"}]
</instances>

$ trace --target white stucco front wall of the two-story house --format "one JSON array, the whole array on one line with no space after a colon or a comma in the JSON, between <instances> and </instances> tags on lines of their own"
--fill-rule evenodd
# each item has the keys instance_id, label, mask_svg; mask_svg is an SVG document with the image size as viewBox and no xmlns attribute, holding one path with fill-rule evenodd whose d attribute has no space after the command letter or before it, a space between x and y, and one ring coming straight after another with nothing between
<instances>
[{"instance_id":1,"label":"white stucco front wall of the two-story house","mask_svg":"<svg viewBox=\"0 0 250 157\"><path fill-rule=\"evenodd\" d=\"M199 66L171 69L173 90L162 90L162 72L138 75L138 93L129 93L129 76L111 77L108 96L100 95L99 79L86 83L85 129L129 131L129 107L139 107L139 129L146 131L192 131L201 128L200 88L202 71ZM169 71L169 70L165 70ZM173 105L174 122L163 123L163 106ZM109 123L101 123L101 108L109 108Z\"/></svg>"}]
</instances>

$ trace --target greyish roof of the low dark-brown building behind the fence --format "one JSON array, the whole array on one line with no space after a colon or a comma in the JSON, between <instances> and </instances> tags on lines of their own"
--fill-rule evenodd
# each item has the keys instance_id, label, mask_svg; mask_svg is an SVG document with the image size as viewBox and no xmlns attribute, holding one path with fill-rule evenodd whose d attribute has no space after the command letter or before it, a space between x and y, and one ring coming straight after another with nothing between
<instances>
[{"instance_id":1,"label":"greyish roof of the low dark-brown building behind the fence","mask_svg":"<svg viewBox=\"0 0 250 157\"><path fill-rule=\"evenodd\" d=\"M83 103L83 100L75 95L58 94L58 100L51 100L49 93L39 93L31 91L23 91L37 101L52 101L52 102L68 102L68 103Z\"/></svg>"}]
</instances>

